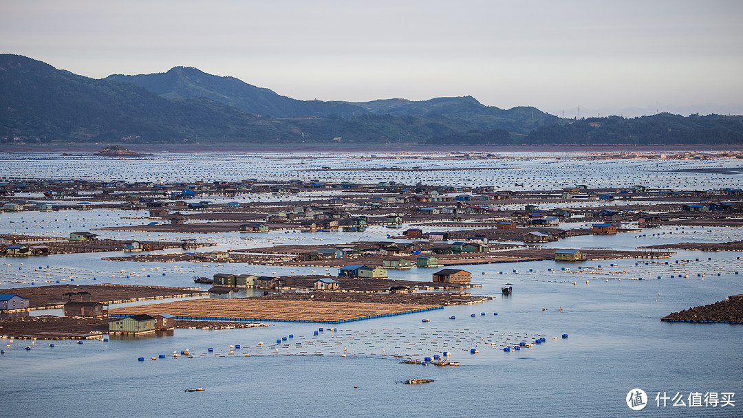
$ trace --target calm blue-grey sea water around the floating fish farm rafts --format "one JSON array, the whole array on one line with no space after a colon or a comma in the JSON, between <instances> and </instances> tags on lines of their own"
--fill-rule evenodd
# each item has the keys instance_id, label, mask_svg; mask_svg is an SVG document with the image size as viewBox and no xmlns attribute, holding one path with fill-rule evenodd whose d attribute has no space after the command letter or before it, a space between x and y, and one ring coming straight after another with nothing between
<instances>
[{"instance_id":1,"label":"calm blue-grey sea water around the floating fish farm rafts","mask_svg":"<svg viewBox=\"0 0 743 418\"><path fill-rule=\"evenodd\" d=\"M225 164L235 161L228 156L220 159ZM62 159L46 161L66 165L59 160ZM189 160L200 158L184 154L175 161L186 166ZM296 160L277 161L285 164L288 172L292 163L287 161ZM330 164L343 161L345 159L338 158ZM10 167L4 167L8 172L13 171L16 163L7 163ZM24 164L22 160L18 163ZM415 163L425 164L420 160ZM619 160L602 163L611 167L627 164ZM630 165L635 163L634 160L629 162ZM111 163L111 172L118 164L118 161ZM325 162L318 164L326 165ZM582 162L576 164L585 166ZM89 168L87 172L83 167L74 170L80 177L97 174ZM622 172L623 169L617 170ZM572 178L570 170L561 172L554 168L554 171L551 178L557 178L556 181ZM53 172L37 173L56 176ZM667 175L677 175L670 173ZM444 177L441 182L446 183L447 172L436 175ZM598 177L581 183L606 181ZM728 177L719 180L719 184L734 186L739 183L736 176ZM638 183L643 181L654 180L652 176L637 179ZM65 212L68 213L50 214L57 221L45 219L44 224L67 221L55 230L68 232L94 228L102 222L97 215L114 218L106 223L138 222L123 219L131 211ZM47 229L39 225L30 227L28 232L19 228L32 221L30 216L33 215L42 213L3 214L0 229L44 233ZM66 218L60 219L62 216ZM634 249L647 244L733 241L741 239L740 231L736 228L664 226L643 231L643 235L651 232L658 233L657 236L637 238L636 233L628 233L611 237L573 237L550 245ZM282 238L301 236L302 243L322 244L356 241L367 238L366 235L371 240L384 239L388 233L389 230L377 227L353 237L343 233L333 237L299 232L281 235ZM199 240L239 239L239 235L233 235L189 234ZM279 236L271 234L270 237L274 235ZM180 237L168 236L174 241ZM344 239L338 241L337 238ZM285 241L289 242L292 241ZM252 243L246 246L248 244ZM192 275L201 275L202 269L204 275L233 271L265 275L273 272L285 275L290 271L311 274L311 270L325 273L325 269L309 267L218 266L214 263L204 267L200 263L100 259L108 255L120 253L3 258L0 287L7 291L10 287L32 286L32 278L71 283L70 276L75 278L75 284L186 286L193 285ZM85 341L83 344L59 341L54 342L54 347L49 347L47 341L36 340L31 350L24 349L31 344L30 340L16 340L11 344L6 339L1 341L4 346L10 344L0 356L6 382L1 405L8 416L28 417L101 414L116 417L269 414L299 417L635 417L640 414L646 417L739 417L739 408L743 407L738 402L743 396L743 380L739 373L743 365L743 350L740 349L743 326L669 323L660 318L743 293L743 275L736 274L743 272L740 255L739 252L677 251L669 259L471 265L465 269L473 273L474 283L483 285L472 293L490 295L493 300L346 324L266 322L270 326L175 330L169 337L111 338L108 342ZM669 264L665 264L666 261ZM436 270L389 270L389 275L429 281L430 274ZM330 272L335 274L335 269ZM681 277L687 274L689 278ZM643 279L639 280L640 277ZM504 296L500 287L507 283L513 286L513 293ZM476 316L470 316L473 313ZM429 321L422 322L422 319ZM319 327L325 330L314 336ZM337 327L337 331L329 331L329 327ZM274 343L289 334L294 337L279 345ZM562 339L562 334L568 334L568 338ZM533 343L536 336L544 336L546 341L518 351L503 351L506 343L513 344L527 337L525 342ZM264 344L259 345L259 342ZM236 344L241 348L230 353L230 346ZM209 347L214 351L207 351ZM181 353L186 348L193 358L172 356L174 351ZM472 349L478 353L470 353ZM450 351L451 361L459 362L460 366L425 367L400 363L404 359L441 355L444 350ZM244 356L245 353L250 356ZM166 358L158 358L160 354ZM139 357L144 357L145 361L137 361ZM158 359L152 361L151 357ZM416 378L434 379L435 382L427 385L401 383ZM202 387L205 391L184 392L194 387ZM642 411L632 411L626 404L627 393L635 388L643 389L648 396L648 405ZM655 400L656 395L660 398L663 393L675 398L666 400L665 407L663 399L659 399L658 404ZM690 396L695 393L700 396L735 393L732 398L735 406L721 408L720 404L713 407L702 403L701 407L692 407Z\"/></svg>"}]
</instances>

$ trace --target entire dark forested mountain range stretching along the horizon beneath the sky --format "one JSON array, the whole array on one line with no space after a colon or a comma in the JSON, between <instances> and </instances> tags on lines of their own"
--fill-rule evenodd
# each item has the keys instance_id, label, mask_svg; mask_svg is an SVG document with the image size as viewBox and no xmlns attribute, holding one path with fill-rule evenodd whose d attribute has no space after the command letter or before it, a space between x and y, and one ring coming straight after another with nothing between
<instances>
[{"instance_id":1,"label":"entire dark forested mountain range stretching along the horizon beneath the sky","mask_svg":"<svg viewBox=\"0 0 743 418\"><path fill-rule=\"evenodd\" d=\"M0 143L743 143L743 117L562 120L473 97L302 101L196 68L91 79L0 55Z\"/></svg>"}]
</instances>

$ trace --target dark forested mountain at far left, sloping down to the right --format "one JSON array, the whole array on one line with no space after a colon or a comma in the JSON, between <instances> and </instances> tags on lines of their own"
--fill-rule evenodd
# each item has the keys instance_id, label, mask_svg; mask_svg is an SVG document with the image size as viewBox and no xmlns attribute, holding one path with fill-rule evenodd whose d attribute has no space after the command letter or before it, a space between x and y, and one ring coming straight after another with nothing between
<instances>
[{"instance_id":1,"label":"dark forested mountain at far left, sloping down to the right","mask_svg":"<svg viewBox=\"0 0 743 418\"><path fill-rule=\"evenodd\" d=\"M123 82L90 79L25 56L0 55L0 136L173 142L276 137L276 128L207 99L169 100Z\"/></svg>"}]
</instances>

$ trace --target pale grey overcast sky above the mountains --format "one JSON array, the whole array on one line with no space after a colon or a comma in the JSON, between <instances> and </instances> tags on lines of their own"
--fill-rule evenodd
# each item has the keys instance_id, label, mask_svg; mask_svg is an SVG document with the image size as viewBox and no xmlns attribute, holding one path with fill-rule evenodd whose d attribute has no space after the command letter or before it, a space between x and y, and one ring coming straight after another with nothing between
<instances>
[{"instance_id":1,"label":"pale grey overcast sky above the mountains","mask_svg":"<svg viewBox=\"0 0 743 418\"><path fill-rule=\"evenodd\" d=\"M184 65L303 100L743 114L739 0L0 0L0 53L93 78Z\"/></svg>"}]
</instances>

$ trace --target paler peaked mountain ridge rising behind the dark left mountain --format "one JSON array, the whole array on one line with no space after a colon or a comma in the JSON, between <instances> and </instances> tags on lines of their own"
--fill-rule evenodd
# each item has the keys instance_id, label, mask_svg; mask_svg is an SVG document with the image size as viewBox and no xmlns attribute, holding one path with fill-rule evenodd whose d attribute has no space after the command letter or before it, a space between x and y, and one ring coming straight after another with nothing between
<instances>
[{"instance_id":1,"label":"paler peaked mountain ridge rising behind the dark left mountain","mask_svg":"<svg viewBox=\"0 0 743 418\"><path fill-rule=\"evenodd\" d=\"M235 77L213 76L192 67L174 67L166 73L137 76L114 74L106 80L130 82L166 99L204 97L264 117L342 117L366 113L359 106L345 102L291 99Z\"/></svg>"}]
</instances>

